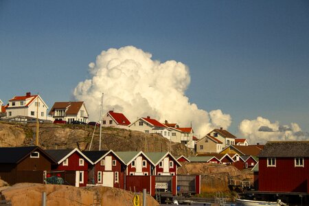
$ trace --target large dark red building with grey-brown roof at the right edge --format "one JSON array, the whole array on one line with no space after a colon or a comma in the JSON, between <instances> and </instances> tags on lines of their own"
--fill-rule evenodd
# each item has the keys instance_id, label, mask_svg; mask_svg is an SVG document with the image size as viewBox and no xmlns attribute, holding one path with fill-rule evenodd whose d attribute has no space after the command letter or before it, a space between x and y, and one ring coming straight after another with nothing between
<instances>
[{"instance_id":1,"label":"large dark red building with grey-brown roof at the right edge","mask_svg":"<svg viewBox=\"0 0 309 206\"><path fill-rule=\"evenodd\" d=\"M309 193L309 141L268 141L259 155L259 191Z\"/></svg>"}]
</instances>

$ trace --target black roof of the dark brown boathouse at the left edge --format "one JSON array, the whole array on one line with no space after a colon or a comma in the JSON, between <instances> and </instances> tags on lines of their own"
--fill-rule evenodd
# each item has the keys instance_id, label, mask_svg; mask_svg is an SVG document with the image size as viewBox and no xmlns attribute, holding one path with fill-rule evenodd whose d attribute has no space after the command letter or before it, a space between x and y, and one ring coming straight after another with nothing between
<instances>
[{"instance_id":1,"label":"black roof of the dark brown boathouse at the left edge","mask_svg":"<svg viewBox=\"0 0 309 206\"><path fill-rule=\"evenodd\" d=\"M38 146L0 148L0 163L19 163L36 150L44 153L49 159L56 163L54 158L52 158Z\"/></svg>"}]
</instances>

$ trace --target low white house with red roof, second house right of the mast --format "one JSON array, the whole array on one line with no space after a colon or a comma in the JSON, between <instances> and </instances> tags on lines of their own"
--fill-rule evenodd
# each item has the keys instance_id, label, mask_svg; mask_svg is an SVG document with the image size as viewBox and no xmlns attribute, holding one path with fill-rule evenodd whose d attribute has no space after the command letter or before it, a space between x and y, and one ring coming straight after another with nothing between
<instances>
[{"instance_id":1,"label":"low white house with red roof, second house right of the mast","mask_svg":"<svg viewBox=\"0 0 309 206\"><path fill-rule=\"evenodd\" d=\"M170 128L161 124L156 119L148 117L139 117L135 122L128 125L130 130L137 130L143 133L159 133L163 137L170 139Z\"/></svg>"}]
</instances>

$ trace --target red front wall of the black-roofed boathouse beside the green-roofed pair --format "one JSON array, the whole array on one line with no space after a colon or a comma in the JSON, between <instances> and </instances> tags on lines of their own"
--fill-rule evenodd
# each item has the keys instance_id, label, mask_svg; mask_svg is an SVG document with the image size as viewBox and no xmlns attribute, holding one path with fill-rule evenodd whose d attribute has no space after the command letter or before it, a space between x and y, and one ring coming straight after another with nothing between
<instances>
[{"instance_id":1,"label":"red front wall of the black-roofed boathouse beside the green-roofed pair","mask_svg":"<svg viewBox=\"0 0 309 206\"><path fill-rule=\"evenodd\" d=\"M113 160L116 161L116 165L112 165L112 170L106 170L104 165L101 165L100 161L95 164L95 169L94 169L94 179L95 183L98 184L98 172L102 171L103 172L114 172L114 187L124 189L124 178L125 178L125 168L126 165L124 165L117 157L114 155L106 155L106 157L111 157L112 162ZM105 160L105 157L103 158ZM115 183L115 172L118 172L118 183ZM103 178L102 178L102 184L103 184Z\"/></svg>"}]
</instances>

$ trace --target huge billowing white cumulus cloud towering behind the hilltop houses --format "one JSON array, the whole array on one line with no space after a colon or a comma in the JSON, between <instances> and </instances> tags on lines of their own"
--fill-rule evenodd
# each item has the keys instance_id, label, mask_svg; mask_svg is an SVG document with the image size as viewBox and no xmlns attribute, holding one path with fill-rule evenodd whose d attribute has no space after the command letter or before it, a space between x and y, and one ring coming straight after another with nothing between
<instances>
[{"instance_id":1,"label":"huge billowing white cumulus cloud towering behind the hilltop houses","mask_svg":"<svg viewBox=\"0 0 309 206\"><path fill-rule=\"evenodd\" d=\"M104 113L124 113L130 122L150 116L164 122L190 124L196 136L213 128L231 125L231 117L220 110L204 111L189 101L185 91L190 70L182 62L152 60L152 55L133 46L108 49L89 64L90 78L79 82L73 95L84 101L92 120L99 119L104 93Z\"/></svg>"}]
</instances>

